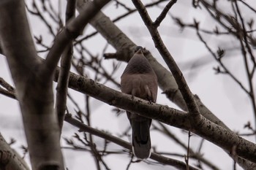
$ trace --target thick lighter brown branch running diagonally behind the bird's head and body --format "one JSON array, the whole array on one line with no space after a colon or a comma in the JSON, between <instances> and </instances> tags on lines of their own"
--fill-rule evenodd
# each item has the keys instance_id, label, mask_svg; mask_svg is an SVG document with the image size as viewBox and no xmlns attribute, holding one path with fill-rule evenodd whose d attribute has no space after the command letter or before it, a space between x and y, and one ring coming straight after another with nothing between
<instances>
[{"instance_id":1,"label":"thick lighter brown branch running diagonally behind the bird's head and body","mask_svg":"<svg viewBox=\"0 0 256 170\"><path fill-rule=\"evenodd\" d=\"M80 2L80 6L77 8L78 11L80 11L81 7L83 6L83 0L78 0L78 2ZM137 45L135 45L135 43L132 42L129 37L127 37L116 25L114 25L110 18L108 18L102 12L99 12L94 19L90 21L90 23L92 26L94 26L94 28L97 29L97 31L99 31L100 34L102 34L110 45L116 48L117 60L129 61L129 58L132 57L134 48L137 47ZM178 107L181 107L181 109L187 110L186 103L180 90L178 90L178 85L173 78L173 74L168 72L165 67L158 63L151 53L147 53L146 58L151 63L154 72L157 74L159 88L162 88L170 101L173 101L173 103L177 104ZM219 120L197 96L195 96L195 100L197 101L197 106L200 108L201 115L206 117L208 120L227 128L227 126L222 123L222 121Z\"/></svg>"}]
</instances>

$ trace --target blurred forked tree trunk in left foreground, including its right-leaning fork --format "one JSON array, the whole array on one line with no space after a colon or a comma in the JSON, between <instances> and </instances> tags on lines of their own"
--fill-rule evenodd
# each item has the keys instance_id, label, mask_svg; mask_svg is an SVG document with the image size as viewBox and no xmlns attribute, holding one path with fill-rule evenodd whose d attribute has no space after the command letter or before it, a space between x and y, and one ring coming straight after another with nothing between
<instances>
[{"instance_id":1,"label":"blurred forked tree trunk in left foreground, including its right-leaning fork","mask_svg":"<svg viewBox=\"0 0 256 170\"><path fill-rule=\"evenodd\" d=\"M42 63L31 38L24 1L0 2L1 47L15 83L32 169L64 169L59 125L53 109L53 73L67 44L107 3L108 0L89 3L56 37Z\"/></svg>"}]
</instances>

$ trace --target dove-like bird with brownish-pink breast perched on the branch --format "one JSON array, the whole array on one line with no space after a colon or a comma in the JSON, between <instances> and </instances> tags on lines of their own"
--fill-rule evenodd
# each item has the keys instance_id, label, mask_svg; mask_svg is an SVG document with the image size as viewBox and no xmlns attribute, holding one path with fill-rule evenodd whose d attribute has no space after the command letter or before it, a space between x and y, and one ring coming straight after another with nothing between
<instances>
[{"instance_id":1,"label":"dove-like bird with brownish-pink breast perched on the branch","mask_svg":"<svg viewBox=\"0 0 256 170\"><path fill-rule=\"evenodd\" d=\"M150 102L157 100L157 75L143 54L143 47L135 47L135 53L121 75L121 92L143 98ZM139 160L151 156L151 119L127 111L132 127L132 152Z\"/></svg>"}]
</instances>

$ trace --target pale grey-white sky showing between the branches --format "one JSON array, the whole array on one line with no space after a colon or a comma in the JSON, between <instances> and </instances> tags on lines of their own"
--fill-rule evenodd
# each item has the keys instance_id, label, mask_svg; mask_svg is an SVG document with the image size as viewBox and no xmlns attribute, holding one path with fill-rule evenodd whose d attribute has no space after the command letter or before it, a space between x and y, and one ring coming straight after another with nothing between
<instances>
[{"instance_id":1,"label":"pale grey-white sky showing between the branches","mask_svg":"<svg viewBox=\"0 0 256 170\"><path fill-rule=\"evenodd\" d=\"M29 1L28 1L29 2ZM133 8L131 1L122 1L126 3L128 7ZM147 1L143 1L146 3ZM246 1L249 4L256 5L255 1ZM191 1L187 0L178 0L178 2L170 9L170 13L173 16L180 17L184 22L192 23L193 18L197 18L200 21L200 26L202 28L212 28L213 22L206 12L200 9L193 9ZM61 1L61 11L64 14L65 11L65 1ZM223 1L223 6L221 9L228 10L229 7L225 6ZM164 4L159 6L164 7ZM56 7L58 5L56 3ZM254 6L256 7L256 6ZM124 9L121 7L114 6L113 3L110 3L103 10L105 15L108 15L110 18L116 18L117 15L120 15L124 12ZM151 15L151 18L155 19L161 9L149 8L148 12ZM248 13L243 13L244 17L251 17L249 10L246 10ZM31 26L32 34L39 35L43 34L47 37L47 30L45 26L39 23L38 18L29 16L29 23ZM164 61L161 56L154 48L154 43L151 40L150 35L146 27L144 26L142 20L140 19L138 13L129 15L128 18L124 18L116 23L116 25L124 31L125 34L132 39L137 45L146 47L148 50L153 53L154 57L157 58L159 63L162 63L165 66ZM88 26L84 34L89 34L93 31L91 26ZM220 120L222 120L230 129L236 132L248 132L244 129L244 125L251 121L254 124L254 117L252 113L252 107L246 93L241 90L241 88L233 82L227 75L223 74L214 74L213 67L217 66L217 63L214 61L212 56L206 50L206 47L198 40L195 30L190 28L184 29L181 31L175 22L167 16L159 28L159 32L162 35L162 39L165 41L168 50L175 58L178 66L184 73L184 76L189 84L189 88L192 90L192 93L197 94L203 104L206 104L206 107L214 112ZM224 49L233 49L232 51L226 51L226 55L229 56L225 59L228 68L235 74L241 82L246 82L246 73L244 71L244 65L241 58L240 49L235 42L235 39L230 39L229 37L223 39L216 36L204 36L207 42L211 47L217 50L217 47L222 47ZM44 38L46 44L50 45L53 39ZM100 35L95 36L93 39L87 40L86 47L88 47L94 55L102 55L102 48L105 47L106 42L102 41ZM114 53L115 50L112 47L108 47L107 52ZM253 51L255 53L255 50ZM45 57L45 54L40 54L40 56ZM116 61L117 62L117 61ZM112 61L105 61L105 66L111 66ZM115 79L120 82L121 73L124 71L127 63L121 63L119 72L114 74ZM167 68L167 67L166 67ZM74 70L72 70L75 72ZM89 76L93 77L93 72L89 72ZM12 79L10 77L10 71L7 67L7 62L3 55L0 56L0 77L3 77L4 80L10 82L13 85ZM110 88L120 90L113 84L106 84ZM83 110L84 107L84 96L74 90L69 90L69 93L75 98L75 100L80 104L80 108ZM108 104L104 104L101 101L91 98L91 126L94 128L99 128L100 130L111 131L113 135L117 136L124 131L129 122L125 114L116 118L116 115L113 114L113 107ZM157 103L165 104L169 107L175 107L170 101L165 98L165 95L162 94L162 91L159 90ZM70 112L74 112L73 104L68 101L68 107ZM12 146L15 147L20 154L22 150L20 146L23 144L26 146L26 139L23 132L23 124L20 115L20 109L18 107L18 102L7 98L6 96L0 95L0 129L1 134L4 138L10 142L11 138L14 138L17 142ZM178 128L170 127L173 133L176 133L177 136L183 140L184 143L187 143L187 134L182 132ZM74 132L77 132L77 128L72 127L71 125L64 123L64 132L62 136L69 137L72 136ZM255 142L254 138L246 138L252 142ZM126 139L129 141L129 139ZM102 139L94 138L94 141L97 143L97 146L100 147L103 144ZM170 151L174 153L183 153L187 154L186 150L176 147L176 144L171 143L169 140L165 139L165 136L159 135L151 131L151 143L152 145L157 145L157 150L159 151ZM197 148L200 143L200 138L196 135L193 135L191 138L191 147ZM65 142L62 141L62 145L65 146ZM103 147L103 145L102 145ZM119 150L121 147L116 144L110 144L112 150ZM94 166L94 159L91 157L91 154L88 152L79 152L73 150L63 150L64 160L67 164L69 170L72 169L96 169ZM204 142L203 144L203 154L206 158L211 160L213 163L216 163L217 166L221 169L233 169L232 159L222 151L219 147L211 144L210 142ZM129 163L128 155L110 155L105 159L106 163L110 166L110 169L126 169L127 164ZM29 163L29 156L26 155L26 161ZM176 158L176 157L172 157ZM176 158L180 159L180 158ZM183 161L183 159L181 158ZM170 166L161 166L155 165L151 166L146 163L133 163L129 169L174 169ZM207 168L205 168L207 169ZM241 169L237 166L237 169Z\"/></svg>"}]
</instances>

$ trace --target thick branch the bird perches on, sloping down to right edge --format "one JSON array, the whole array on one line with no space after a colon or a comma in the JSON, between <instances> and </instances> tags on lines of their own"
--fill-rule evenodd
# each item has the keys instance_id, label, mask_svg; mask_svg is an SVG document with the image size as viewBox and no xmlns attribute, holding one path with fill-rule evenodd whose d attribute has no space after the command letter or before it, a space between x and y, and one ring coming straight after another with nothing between
<instances>
[{"instance_id":1,"label":"thick branch the bird perches on, sloping down to right edge","mask_svg":"<svg viewBox=\"0 0 256 170\"><path fill-rule=\"evenodd\" d=\"M129 112L136 112L139 115L159 120L167 125L191 130L193 133L217 144L224 150L231 152L231 150L236 147L238 156L256 162L256 144L241 138L232 131L228 131L212 123L205 117L202 117L202 121L197 126L191 125L189 122L191 114L187 112L181 112L167 106L150 103L141 98L135 97L132 99L132 96L110 89L105 85L77 74L69 75L69 87L81 93L86 93L111 106L125 109Z\"/></svg>"}]
</instances>

